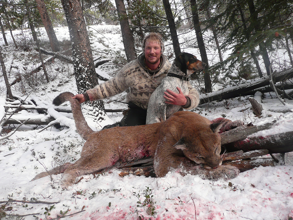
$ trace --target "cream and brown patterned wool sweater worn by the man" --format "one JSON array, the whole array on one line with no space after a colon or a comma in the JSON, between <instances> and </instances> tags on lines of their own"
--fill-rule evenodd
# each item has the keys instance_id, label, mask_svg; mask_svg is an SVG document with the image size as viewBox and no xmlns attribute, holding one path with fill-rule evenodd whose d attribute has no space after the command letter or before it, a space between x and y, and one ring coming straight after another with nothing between
<instances>
[{"instance_id":1,"label":"cream and brown patterned wool sweater worn by the man","mask_svg":"<svg viewBox=\"0 0 293 220\"><path fill-rule=\"evenodd\" d=\"M137 60L133 60L122 67L115 77L97 85L93 89L87 90L89 100L104 99L128 89L127 102L132 101L142 109L147 109L151 94L159 86L171 67L171 63L166 59L165 55L161 55L161 58L162 62L159 69L156 70L157 72L154 75L151 75L149 74L151 71L147 70L143 65L144 53L140 54ZM186 109L193 109L199 103L199 95L190 83L188 87L190 89L188 97L191 100L191 106Z\"/></svg>"}]
</instances>

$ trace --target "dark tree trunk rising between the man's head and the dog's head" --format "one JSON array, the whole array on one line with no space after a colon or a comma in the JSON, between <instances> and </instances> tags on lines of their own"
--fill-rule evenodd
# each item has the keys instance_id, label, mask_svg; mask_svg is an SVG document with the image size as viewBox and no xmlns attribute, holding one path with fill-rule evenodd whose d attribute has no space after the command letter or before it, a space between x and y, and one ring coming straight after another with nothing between
<instances>
[{"instance_id":1,"label":"dark tree trunk rising between the man's head and the dog's head","mask_svg":"<svg viewBox=\"0 0 293 220\"><path fill-rule=\"evenodd\" d=\"M169 24L169 29L170 29L170 33L171 33L174 53L175 53L175 56L177 57L179 55L179 53L181 53L181 50L180 50L178 35L177 35L177 31L176 31L176 26L175 26L175 21L174 21L174 17L173 17L173 14L172 14L172 10L171 10L169 0L163 0L163 5L164 5L164 8L165 8L165 12L166 12L166 16L167 16L167 20L168 20L168 24Z\"/></svg>"}]
</instances>

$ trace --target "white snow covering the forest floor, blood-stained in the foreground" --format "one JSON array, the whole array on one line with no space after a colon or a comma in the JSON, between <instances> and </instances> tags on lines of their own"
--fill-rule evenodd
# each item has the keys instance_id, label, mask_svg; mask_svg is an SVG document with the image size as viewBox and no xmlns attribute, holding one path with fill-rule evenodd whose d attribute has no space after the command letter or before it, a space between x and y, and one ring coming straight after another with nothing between
<instances>
[{"instance_id":1,"label":"white snow covering the forest floor, blood-stained in the foreground","mask_svg":"<svg viewBox=\"0 0 293 220\"><path fill-rule=\"evenodd\" d=\"M93 26L92 30L94 31L91 36L93 42L91 46L94 57L105 55L103 51L107 51L107 56L111 58L115 53L124 55L119 27ZM69 39L66 27L56 28L55 31L59 40ZM46 40L45 30L40 29L40 32L42 33L41 38ZM7 34L7 39L12 45L9 37L10 35ZM9 51L9 46L4 49ZM197 57L200 57L195 48L186 52L195 53ZM21 50L13 53L19 53L18 57L22 56L21 53L27 54ZM20 67L18 71L23 71L24 61L13 58L12 54L7 54L4 60L6 69L10 65L17 65ZM31 63L30 65L32 66ZM60 63L55 59L55 63L52 65L52 70L54 70L54 65L57 66ZM44 166L50 170L56 166L55 164L77 160L84 144L75 131L72 114L60 113L52 108L52 99L59 93L69 91L76 94L77 91L75 79L71 75L72 67L66 67L64 63L61 65L66 71L56 75L54 81L39 85L29 95L27 102L32 103L31 100L34 100L39 106L49 107L48 114L69 128L59 130L50 127L41 131L40 126L23 125L8 139L0 141L0 200L34 201L32 198L35 198L56 203L54 206L53 204L28 203L26 207L25 203L10 202L5 207L6 214L34 213L37 216L30 215L22 218L26 220L54 219L58 215L62 215L61 211L65 213L67 210L66 215L72 215L63 219L292 219L292 152L285 154L285 164L248 170L229 181L202 180L196 175L183 177L176 172L169 172L166 177L161 178L134 175L120 177L119 170L110 169L100 175L83 175L83 179L79 183L67 189L62 189L59 185L61 174L53 175L53 180L50 177L43 177L30 182L36 174L45 171ZM29 65L26 63L26 66ZM105 78L111 78L120 68L114 65L105 66L102 65L96 69L98 74ZM237 74L237 71L235 70L233 74ZM13 77L10 80L12 82ZM59 84L62 85L58 86ZM5 88L3 77L0 78L0 88L2 87ZM5 114L3 106L8 104L5 100L5 91L6 89L0 90L0 118ZM26 98L16 86L12 88L12 92L22 100ZM126 109L126 104L114 101L125 101L124 97L125 93L105 100L105 108ZM290 100L286 99L285 102L292 105ZM283 107L275 94L265 94L262 105L264 113L260 118L253 116L248 97L229 99L227 102L211 102L200 105L194 111L210 120L225 115L228 119L241 120L244 123L252 122L255 125L277 121L274 127L266 131L259 131L257 135L293 131L292 111L286 113L271 111ZM26 119L28 116L31 119L44 117L35 110L20 111L13 117ZM121 118L120 113L108 114L105 120L100 121L94 121L91 117L86 116L89 125L96 130L119 121ZM7 132L10 128L4 127ZM149 199L147 200L147 198ZM3 204L5 203L1 205ZM145 206L143 206L144 204ZM8 207L12 207L11 210L7 209ZM44 214L45 212L47 213ZM48 213L50 213L49 216ZM3 219L8 219L8 217Z\"/></svg>"}]
</instances>

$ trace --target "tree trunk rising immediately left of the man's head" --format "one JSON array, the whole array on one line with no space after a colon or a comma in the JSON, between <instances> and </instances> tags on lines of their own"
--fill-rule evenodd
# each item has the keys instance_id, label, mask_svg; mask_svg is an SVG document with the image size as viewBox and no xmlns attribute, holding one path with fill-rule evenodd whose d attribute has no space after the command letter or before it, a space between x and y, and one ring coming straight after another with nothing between
<instances>
[{"instance_id":1,"label":"tree trunk rising immediately left of the man's head","mask_svg":"<svg viewBox=\"0 0 293 220\"><path fill-rule=\"evenodd\" d=\"M115 0L115 3L116 3L117 12L118 12L121 33L122 33L122 40L123 40L123 45L124 45L127 61L130 62L137 58L135 47L134 47L134 39L132 36L132 32L130 30L128 16L126 13L123 0Z\"/></svg>"}]
</instances>

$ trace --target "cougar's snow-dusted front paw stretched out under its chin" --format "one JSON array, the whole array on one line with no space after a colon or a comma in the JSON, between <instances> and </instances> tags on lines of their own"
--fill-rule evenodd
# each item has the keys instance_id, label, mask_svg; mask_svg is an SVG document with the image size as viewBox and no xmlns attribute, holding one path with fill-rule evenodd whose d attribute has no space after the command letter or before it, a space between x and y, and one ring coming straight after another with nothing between
<instances>
[{"instance_id":1,"label":"cougar's snow-dusted front paw stretched out under its chin","mask_svg":"<svg viewBox=\"0 0 293 220\"><path fill-rule=\"evenodd\" d=\"M233 166L219 166L217 169L205 169L199 175L202 179L207 180L229 180L238 176L239 170Z\"/></svg>"}]
</instances>

